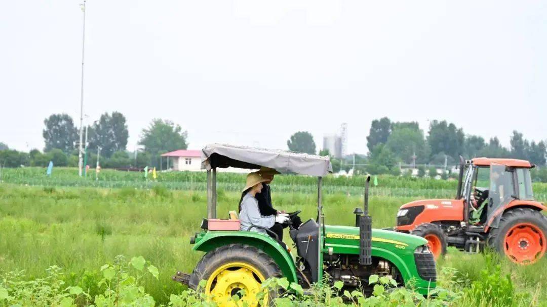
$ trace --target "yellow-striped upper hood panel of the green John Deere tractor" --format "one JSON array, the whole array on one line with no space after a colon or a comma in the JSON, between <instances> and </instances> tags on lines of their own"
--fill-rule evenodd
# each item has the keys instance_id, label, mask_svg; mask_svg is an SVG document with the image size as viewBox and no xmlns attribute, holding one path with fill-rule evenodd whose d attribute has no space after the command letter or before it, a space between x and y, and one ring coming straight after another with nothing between
<instances>
[{"instance_id":1,"label":"yellow-striped upper hood panel of the green John Deere tractor","mask_svg":"<svg viewBox=\"0 0 547 307\"><path fill-rule=\"evenodd\" d=\"M350 239L354 240L354 244L359 245L359 227L325 225L325 232L325 238L328 241L329 239ZM422 237L391 230L373 228L372 237L373 246L388 249L395 246L408 246L410 250L414 250L420 245L427 244L427 240Z\"/></svg>"}]
</instances>

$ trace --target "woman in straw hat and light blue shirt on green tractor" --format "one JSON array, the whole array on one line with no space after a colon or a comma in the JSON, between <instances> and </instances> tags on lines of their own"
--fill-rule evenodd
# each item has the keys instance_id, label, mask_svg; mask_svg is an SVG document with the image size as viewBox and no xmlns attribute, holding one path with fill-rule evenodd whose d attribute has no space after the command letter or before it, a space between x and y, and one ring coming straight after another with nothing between
<instances>
[{"instance_id":1,"label":"woman in straw hat and light blue shirt on green tractor","mask_svg":"<svg viewBox=\"0 0 547 307\"><path fill-rule=\"evenodd\" d=\"M261 226L277 234L281 241L283 240L283 226L281 224L289 221L288 214L278 213L277 215L262 216L258 209L257 198L255 198L255 195L262 190L262 183L266 181L267 179L262 178L258 173L247 175L247 184L243 189L239 206L240 229L246 231L251 225ZM251 231L266 232L256 227L253 227Z\"/></svg>"}]
</instances>

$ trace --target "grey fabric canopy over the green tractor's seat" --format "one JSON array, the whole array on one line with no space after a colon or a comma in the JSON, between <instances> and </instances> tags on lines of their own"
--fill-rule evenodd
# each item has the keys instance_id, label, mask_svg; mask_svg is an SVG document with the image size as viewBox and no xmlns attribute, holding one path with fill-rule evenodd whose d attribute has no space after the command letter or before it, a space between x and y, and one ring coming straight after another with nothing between
<instances>
[{"instance_id":1,"label":"grey fabric canopy over the green tractor's seat","mask_svg":"<svg viewBox=\"0 0 547 307\"><path fill-rule=\"evenodd\" d=\"M273 168L280 173L324 177L333 172L328 156L295 153L277 149L210 144L201 149L201 168Z\"/></svg>"}]
</instances>

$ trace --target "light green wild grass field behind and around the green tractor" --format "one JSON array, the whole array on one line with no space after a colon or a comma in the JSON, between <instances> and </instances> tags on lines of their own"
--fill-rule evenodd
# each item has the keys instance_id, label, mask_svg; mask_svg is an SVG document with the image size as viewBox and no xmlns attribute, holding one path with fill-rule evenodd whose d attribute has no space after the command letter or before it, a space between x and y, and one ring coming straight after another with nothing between
<instances>
[{"instance_id":1,"label":"light green wild grass field behind and around the green tractor","mask_svg":"<svg viewBox=\"0 0 547 307\"><path fill-rule=\"evenodd\" d=\"M303 219L316 215L316 195L282 193L275 187L272 191L276 207L301 209ZM219 215L235 209L239 196L237 192L219 192ZM373 226L393 226L399 206L414 199L371 197ZM152 189L106 189L2 183L0 271L24 269L26 277L32 279L44 276L45 269L56 264L63 268L63 278L69 285L79 285L95 294L101 276L98 268L104 263L120 254L127 258L142 255L160 269L160 280L148 278L144 286L156 302L165 303L171 293L181 291L181 285L171 281L171 276L177 270L191 272L201 257L201 253L190 250L189 237L206 215L205 203L204 191L169 190L160 185ZM325 222L353 225L352 212L358 206L362 206L361 195L326 193ZM497 261L504 274L512 276L517 291L527 293L528 299L523 300L522 306L529 305L529 298L547 301L545 259L527 267ZM446 258L439 262L439 272L444 277L440 286L465 292L473 281L480 279L484 267L484 256L449 249ZM462 304L472 303L486 304L465 294Z\"/></svg>"}]
</instances>

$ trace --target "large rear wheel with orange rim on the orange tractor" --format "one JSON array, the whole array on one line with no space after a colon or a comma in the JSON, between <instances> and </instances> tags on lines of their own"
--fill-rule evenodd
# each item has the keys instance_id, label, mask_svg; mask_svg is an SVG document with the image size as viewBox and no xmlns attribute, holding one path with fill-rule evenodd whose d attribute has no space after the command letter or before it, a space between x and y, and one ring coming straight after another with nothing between
<instances>
[{"instance_id":1,"label":"large rear wheel with orange rim on the orange tractor","mask_svg":"<svg viewBox=\"0 0 547 307\"><path fill-rule=\"evenodd\" d=\"M488 245L519 264L536 262L547 250L547 217L529 208L516 208L502 215L498 228L488 234Z\"/></svg>"}]
</instances>

